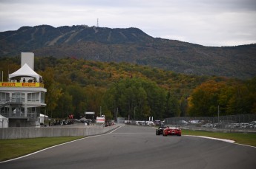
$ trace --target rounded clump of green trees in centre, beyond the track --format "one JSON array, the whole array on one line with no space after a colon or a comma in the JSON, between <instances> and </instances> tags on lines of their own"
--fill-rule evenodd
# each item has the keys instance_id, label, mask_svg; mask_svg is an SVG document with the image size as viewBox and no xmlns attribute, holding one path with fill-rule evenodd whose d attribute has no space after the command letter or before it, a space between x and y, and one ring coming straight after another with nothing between
<instances>
[{"instance_id":1,"label":"rounded clump of green trees in centre, beyond the track","mask_svg":"<svg viewBox=\"0 0 256 169\"><path fill-rule=\"evenodd\" d=\"M112 114L115 114L118 108L119 117L145 120L150 116L163 118L166 93L151 81L127 78L114 83L105 93L103 100Z\"/></svg>"}]
</instances>

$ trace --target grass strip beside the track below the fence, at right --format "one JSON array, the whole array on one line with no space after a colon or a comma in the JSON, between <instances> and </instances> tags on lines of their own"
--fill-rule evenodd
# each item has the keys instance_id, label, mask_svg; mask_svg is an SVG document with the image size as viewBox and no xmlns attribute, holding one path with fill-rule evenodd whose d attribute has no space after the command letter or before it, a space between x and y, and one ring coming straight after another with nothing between
<instances>
[{"instance_id":1,"label":"grass strip beside the track below the fence, at right","mask_svg":"<svg viewBox=\"0 0 256 169\"><path fill-rule=\"evenodd\" d=\"M213 131L191 131L183 129L183 135L194 135L204 137L214 137L219 139L231 139L234 142L243 145L252 145L256 147L256 134L243 133L222 133Z\"/></svg>"}]
</instances>

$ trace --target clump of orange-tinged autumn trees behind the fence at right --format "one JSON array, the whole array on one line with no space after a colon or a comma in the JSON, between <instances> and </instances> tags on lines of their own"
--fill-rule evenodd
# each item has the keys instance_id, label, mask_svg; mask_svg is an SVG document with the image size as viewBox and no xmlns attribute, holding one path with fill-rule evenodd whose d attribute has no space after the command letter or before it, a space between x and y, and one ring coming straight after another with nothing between
<instances>
[{"instance_id":1,"label":"clump of orange-tinged autumn trees behind the fence at right","mask_svg":"<svg viewBox=\"0 0 256 169\"><path fill-rule=\"evenodd\" d=\"M221 115L255 113L255 78L245 82L209 80L197 86L188 101L191 116L217 116L218 106Z\"/></svg>"}]
</instances>

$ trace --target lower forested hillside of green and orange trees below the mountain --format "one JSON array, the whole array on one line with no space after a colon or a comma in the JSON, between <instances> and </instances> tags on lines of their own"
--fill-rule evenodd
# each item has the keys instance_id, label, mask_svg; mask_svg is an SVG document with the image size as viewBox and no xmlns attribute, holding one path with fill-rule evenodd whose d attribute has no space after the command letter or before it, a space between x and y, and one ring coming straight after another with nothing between
<instances>
[{"instance_id":1,"label":"lower forested hillside of green and orange trees below the mountain","mask_svg":"<svg viewBox=\"0 0 256 169\"><path fill-rule=\"evenodd\" d=\"M20 58L0 58L3 79L20 68ZM239 80L186 75L131 63L35 57L42 75L45 103L51 117L76 118L99 108L108 120L119 117L145 120L180 116L256 113L256 77ZM134 110L136 116L134 116Z\"/></svg>"}]
</instances>

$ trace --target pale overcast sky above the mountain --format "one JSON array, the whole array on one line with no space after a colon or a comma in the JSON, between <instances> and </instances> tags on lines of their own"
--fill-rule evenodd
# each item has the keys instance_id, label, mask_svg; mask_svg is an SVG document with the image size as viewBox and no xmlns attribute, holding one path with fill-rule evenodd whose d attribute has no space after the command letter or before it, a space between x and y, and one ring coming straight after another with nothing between
<instances>
[{"instance_id":1,"label":"pale overcast sky above the mountain","mask_svg":"<svg viewBox=\"0 0 256 169\"><path fill-rule=\"evenodd\" d=\"M204 46L256 43L256 0L0 0L0 32L23 26L137 27Z\"/></svg>"}]
</instances>

